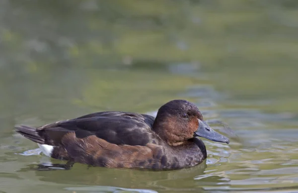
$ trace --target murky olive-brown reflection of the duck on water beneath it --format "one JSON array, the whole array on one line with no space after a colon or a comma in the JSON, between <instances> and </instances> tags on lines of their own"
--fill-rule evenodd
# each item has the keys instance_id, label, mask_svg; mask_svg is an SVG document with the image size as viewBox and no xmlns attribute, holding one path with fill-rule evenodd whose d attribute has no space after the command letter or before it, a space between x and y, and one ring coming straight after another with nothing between
<instances>
[{"instance_id":1,"label":"murky olive-brown reflection of the duck on water beneath it","mask_svg":"<svg viewBox=\"0 0 298 193\"><path fill-rule=\"evenodd\" d=\"M52 160L56 161L56 160ZM122 187L127 189L154 189L154 191L182 191L196 186L195 177L203 175L206 161L202 164L173 171L144 171L135 169L111 169L88 167L83 164L42 161L31 164L20 172L34 170L40 181L75 186ZM93 187L94 188L94 187ZM202 190L201 188L196 191ZM138 191L137 191L138 192Z\"/></svg>"}]
</instances>

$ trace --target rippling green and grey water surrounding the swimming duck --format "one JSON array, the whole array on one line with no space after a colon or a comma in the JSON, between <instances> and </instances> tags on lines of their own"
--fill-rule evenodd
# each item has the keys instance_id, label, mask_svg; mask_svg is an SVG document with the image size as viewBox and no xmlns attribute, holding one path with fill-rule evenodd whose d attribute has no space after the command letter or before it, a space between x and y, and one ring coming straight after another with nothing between
<instances>
[{"instance_id":1,"label":"rippling green and grey water surrounding the swimming duck","mask_svg":"<svg viewBox=\"0 0 298 193\"><path fill-rule=\"evenodd\" d=\"M295 0L0 3L0 193L298 192ZM13 131L175 98L231 138L189 169L42 170Z\"/></svg>"}]
</instances>

